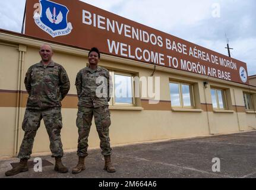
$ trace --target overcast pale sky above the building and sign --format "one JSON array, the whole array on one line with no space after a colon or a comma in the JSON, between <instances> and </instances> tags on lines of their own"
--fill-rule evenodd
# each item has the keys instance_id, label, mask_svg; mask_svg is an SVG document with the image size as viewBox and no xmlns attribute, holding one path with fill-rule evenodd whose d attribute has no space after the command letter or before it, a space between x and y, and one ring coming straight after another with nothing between
<instances>
[{"instance_id":1,"label":"overcast pale sky above the building and sign","mask_svg":"<svg viewBox=\"0 0 256 190\"><path fill-rule=\"evenodd\" d=\"M231 56L246 62L248 74L256 75L255 0L83 1L224 55L226 33ZM1 0L0 28L20 32L24 5L25 0Z\"/></svg>"}]
</instances>

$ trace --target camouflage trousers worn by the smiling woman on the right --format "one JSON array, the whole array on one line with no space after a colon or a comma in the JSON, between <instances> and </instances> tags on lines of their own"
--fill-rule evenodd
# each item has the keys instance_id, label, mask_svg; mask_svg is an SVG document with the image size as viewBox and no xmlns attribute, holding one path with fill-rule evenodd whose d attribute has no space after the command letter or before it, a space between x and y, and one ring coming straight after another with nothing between
<instances>
[{"instance_id":1,"label":"camouflage trousers worn by the smiling woman on the right","mask_svg":"<svg viewBox=\"0 0 256 190\"><path fill-rule=\"evenodd\" d=\"M108 106L102 107L78 107L77 127L78 127L78 147L77 155L81 157L88 156L88 137L91 128L91 120L93 119L100 138L100 148L103 156L110 156L112 148L110 148L109 126L110 112Z\"/></svg>"}]
</instances>

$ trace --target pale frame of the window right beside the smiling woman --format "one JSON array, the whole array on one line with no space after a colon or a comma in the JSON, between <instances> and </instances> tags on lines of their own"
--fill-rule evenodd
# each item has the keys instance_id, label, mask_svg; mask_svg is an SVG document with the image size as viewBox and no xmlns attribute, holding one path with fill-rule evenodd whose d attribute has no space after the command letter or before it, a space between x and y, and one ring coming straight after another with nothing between
<instances>
[{"instance_id":1,"label":"pale frame of the window right beside the smiling woman","mask_svg":"<svg viewBox=\"0 0 256 190\"><path fill-rule=\"evenodd\" d=\"M109 106L124 106L124 107L134 107L136 106L135 97L134 97L134 75L125 73L125 72L119 72L119 71L109 71L109 75L112 79L112 96L109 101ZM122 75L125 77L131 77L131 90L132 90L132 103L116 103L115 102L115 75Z\"/></svg>"}]
</instances>

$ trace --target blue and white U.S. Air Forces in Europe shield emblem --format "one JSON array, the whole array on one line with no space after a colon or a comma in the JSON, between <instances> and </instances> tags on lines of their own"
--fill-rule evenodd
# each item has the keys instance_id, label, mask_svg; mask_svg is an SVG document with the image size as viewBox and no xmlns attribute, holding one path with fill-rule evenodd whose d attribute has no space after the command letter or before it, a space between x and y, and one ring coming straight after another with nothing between
<instances>
[{"instance_id":1,"label":"blue and white U.S. Air Forces in Europe shield emblem","mask_svg":"<svg viewBox=\"0 0 256 190\"><path fill-rule=\"evenodd\" d=\"M68 23L68 8L48 0L40 0L41 11L34 14L36 25L52 37L71 33L72 24Z\"/></svg>"}]
</instances>

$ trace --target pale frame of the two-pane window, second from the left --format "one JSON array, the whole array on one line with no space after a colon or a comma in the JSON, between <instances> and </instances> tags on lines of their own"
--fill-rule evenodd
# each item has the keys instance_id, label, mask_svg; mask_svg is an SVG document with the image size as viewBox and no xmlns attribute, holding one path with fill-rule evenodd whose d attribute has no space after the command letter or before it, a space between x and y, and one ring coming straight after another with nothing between
<instances>
[{"instance_id":1,"label":"pale frame of the two-pane window, second from the left","mask_svg":"<svg viewBox=\"0 0 256 190\"><path fill-rule=\"evenodd\" d=\"M179 87L179 103L181 106L172 106L172 94L170 90L170 83L172 84L178 84ZM189 94L190 94L190 102L191 106L184 106L184 99L183 99L183 93L182 93L182 85L188 85L189 86ZM178 82L178 81L169 81L169 93L170 93L170 103L173 108L182 108L182 109L195 109L195 97L194 97L194 86L193 84L185 83L185 82Z\"/></svg>"}]
</instances>

